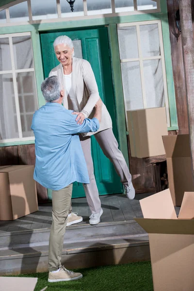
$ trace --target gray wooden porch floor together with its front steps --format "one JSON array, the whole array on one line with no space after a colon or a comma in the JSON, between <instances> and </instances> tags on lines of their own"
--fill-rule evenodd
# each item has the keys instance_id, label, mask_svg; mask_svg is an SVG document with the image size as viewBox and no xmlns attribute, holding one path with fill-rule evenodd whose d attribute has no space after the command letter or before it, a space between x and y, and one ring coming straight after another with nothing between
<instances>
[{"instance_id":1,"label":"gray wooden porch floor together with its front steps","mask_svg":"<svg viewBox=\"0 0 194 291\"><path fill-rule=\"evenodd\" d=\"M72 199L72 210L83 222L66 228L62 262L69 269L149 260L149 241L133 218L143 217L139 200L151 195L100 196L103 214L98 225L89 225L86 198ZM179 208L176 208L179 212ZM0 275L48 270L51 203L15 221L0 221Z\"/></svg>"}]
</instances>

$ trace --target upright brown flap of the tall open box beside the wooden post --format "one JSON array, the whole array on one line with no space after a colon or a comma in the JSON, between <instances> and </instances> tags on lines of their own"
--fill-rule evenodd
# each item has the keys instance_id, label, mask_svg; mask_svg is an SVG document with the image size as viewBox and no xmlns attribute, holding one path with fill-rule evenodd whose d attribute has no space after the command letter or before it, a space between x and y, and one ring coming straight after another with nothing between
<instances>
[{"instance_id":1,"label":"upright brown flap of the tall open box beside the wooden post","mask_svg":"<svg viewBox=\"0 0 194 291\"><path fill-rule=\"evenodd\" d=\"M162 136L166 158L191 157L189 134Z\"/></svg>"}]
</instances>

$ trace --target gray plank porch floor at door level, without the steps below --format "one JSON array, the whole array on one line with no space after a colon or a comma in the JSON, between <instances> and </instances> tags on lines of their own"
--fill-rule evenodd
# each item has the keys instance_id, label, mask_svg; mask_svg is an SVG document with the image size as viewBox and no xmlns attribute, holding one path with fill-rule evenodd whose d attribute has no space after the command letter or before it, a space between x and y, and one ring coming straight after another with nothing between
<instances>
[{"instance_id":1,"label":"gray plank porch floor at door level, without the steps below","mask_svg":"<svg viewBox=\"0 0 194 291\"><path fill-rule=\"evenodd\" d=\"M137 194L129 200L124 194L100 196L103 214L100 223L123 222L135 217L143 217L139 200L151 193ZM90 210L85 197L72 199L72 211L83 217L77 226L89 224ZM39 204L39 210L15 221L0 221L0 233L28 229L50 228L52 223L52 204ZM74 225L75 226L75 225Z\"/></svg>"}]
</instances>

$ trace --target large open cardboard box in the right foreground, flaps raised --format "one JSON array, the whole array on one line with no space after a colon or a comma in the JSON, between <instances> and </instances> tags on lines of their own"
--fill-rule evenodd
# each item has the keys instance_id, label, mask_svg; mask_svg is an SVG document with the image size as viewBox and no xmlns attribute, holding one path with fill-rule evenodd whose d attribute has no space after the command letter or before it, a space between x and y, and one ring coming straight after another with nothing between
<instances>
[{"instance_id":1,"label":"large open cardboard box in the right foreground, flaps raised","mask_svg":"<svg viewBox=\"0 0 194 291\"><path fill-rule=\"evenodd\" d=\"M186 192L177 218L170 190L140 200L149 235L154 291L194 291L194 192Z\"/></svg>"}]
</instances>

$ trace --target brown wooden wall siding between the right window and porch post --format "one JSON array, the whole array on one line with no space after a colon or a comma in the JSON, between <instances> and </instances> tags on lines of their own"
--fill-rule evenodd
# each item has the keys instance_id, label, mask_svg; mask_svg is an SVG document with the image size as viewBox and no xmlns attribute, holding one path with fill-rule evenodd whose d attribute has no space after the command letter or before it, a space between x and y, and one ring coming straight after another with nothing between
<instances>
[{"instance_id":1,"label":"brown wooden wall siding between the right window and porch post","mask_svg":"<svg viewBox=\"0 0 194 291\"><path fill-rule=\"evenodd\" d=\"M171 54L173 64L173 75L175 83L175 94L178 117L178 133L189 133L188 113L186 101L186 84L183 65L182 41L175 20L176 11L179 8L178 0L167 0L168 22L170 30Z\"/></svg>"}]
</instances>

